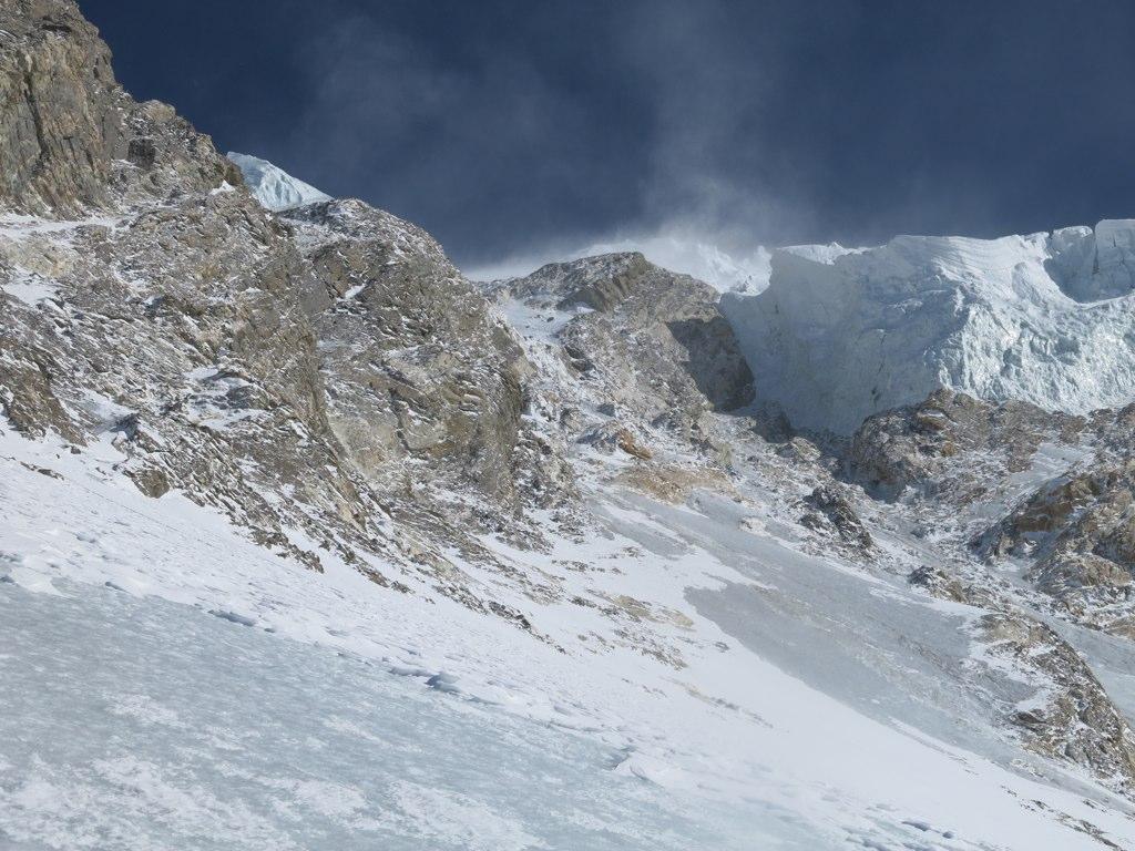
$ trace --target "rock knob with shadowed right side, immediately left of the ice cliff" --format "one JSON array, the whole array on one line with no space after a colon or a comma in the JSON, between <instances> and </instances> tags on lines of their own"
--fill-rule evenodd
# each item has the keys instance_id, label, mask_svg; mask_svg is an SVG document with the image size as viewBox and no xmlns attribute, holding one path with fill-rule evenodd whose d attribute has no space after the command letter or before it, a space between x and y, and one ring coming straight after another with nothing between
<instances>
[{"instance_id":1,"label":"rock knob with shadowed right side, immediately left of the ice cliff","mask_svg":"<svg viewBox=\"0 0 1135 851\"><path fill-rule=\"evenodd\" d=\"M486 292L524 339L531 410L550 444L617 453L639 465L619 482L667 498L728 481L731 448L714 414L753 401L753 374L714 289L624 253Z\"/></svg>"}]
</instances>

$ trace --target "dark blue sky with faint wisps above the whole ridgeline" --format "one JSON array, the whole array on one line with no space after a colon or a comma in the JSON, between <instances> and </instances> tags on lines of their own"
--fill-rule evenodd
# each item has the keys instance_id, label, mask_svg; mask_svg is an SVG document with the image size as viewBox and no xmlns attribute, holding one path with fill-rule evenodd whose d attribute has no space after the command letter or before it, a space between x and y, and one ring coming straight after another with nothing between
<instances>
[{"instance_id":1,"label":"dark blue sky with faint wisps above the whole ridgeline","mask_svg":"<svg viewBox=\"0 0 1135 851\"><path fill-rule=\"evenodd\" d=\"M140 99L466 264L1135 216L1135 3L79 0Z\"/></svg>"}]
</instances>

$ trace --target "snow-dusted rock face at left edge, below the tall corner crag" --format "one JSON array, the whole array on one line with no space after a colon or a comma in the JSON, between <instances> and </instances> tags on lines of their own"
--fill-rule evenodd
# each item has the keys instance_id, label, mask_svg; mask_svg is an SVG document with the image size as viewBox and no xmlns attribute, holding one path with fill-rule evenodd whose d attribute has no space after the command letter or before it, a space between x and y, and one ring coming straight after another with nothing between
<instances>
[{"instance_id":1,"label":"snow-dusted rock face at left edge, below the tall corner crag","mask_svg":"<svg viewBox=\"0 0 1135 851\"><path fill-rule=\"evenodd\" d=\"M285 530L343 551L377 533L377 503L327 426L302 309L310 269L247 196L0 237L0 266L50 286L0 300L0 385L17 427L110 440L144 492L177 488L312 566L317 553ZM281 490L294 502L275 499Z\"/></svg>"}]
</instances>

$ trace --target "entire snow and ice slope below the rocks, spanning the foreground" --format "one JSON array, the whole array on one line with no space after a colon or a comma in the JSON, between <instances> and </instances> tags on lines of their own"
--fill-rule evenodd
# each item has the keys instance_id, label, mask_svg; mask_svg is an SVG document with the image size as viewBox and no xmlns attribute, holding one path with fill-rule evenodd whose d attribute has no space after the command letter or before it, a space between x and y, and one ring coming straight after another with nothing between
<instances>
[{"instance_id":1,"label":"entire snow and ice slope below the rocks, spanning the foreground","mask_svg":"<svg viewBox=\"0 0 1135 851\"><path fill-rule=\"evenodd\" d=\"M976 613L743 522L758 490L597 491L606 537L485 539L637 607L673 667L562 603L528 601L538 641L334 558L314 573L120 461L0 431L6 848L1135 843L1124 802L966 705Z\"/></svg>"}]
</instances>

